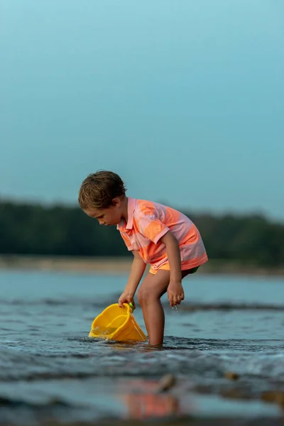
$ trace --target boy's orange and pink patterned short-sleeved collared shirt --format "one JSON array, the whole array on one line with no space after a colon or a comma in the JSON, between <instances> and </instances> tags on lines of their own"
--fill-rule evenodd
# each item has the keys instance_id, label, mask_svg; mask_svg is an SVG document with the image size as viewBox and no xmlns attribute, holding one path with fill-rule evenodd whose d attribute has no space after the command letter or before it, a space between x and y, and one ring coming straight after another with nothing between
<instances>
[{"instance_id":1,"label":"boy's orange and pink patterned short-sleeved collared shirt","mask_svg":"<svg viewBox=\"0 0 284 426\"><path fill-rule=\"evenodd\" d=\"M128 221L121 221L117 229L129 250L136 250L151 273L159 269L170 271L165 244L160 241L171 231L180 244L182 271L207 262L200 232L193 222L178 210L158 202L128 197Z\"/></svg>"}]
</instances>

